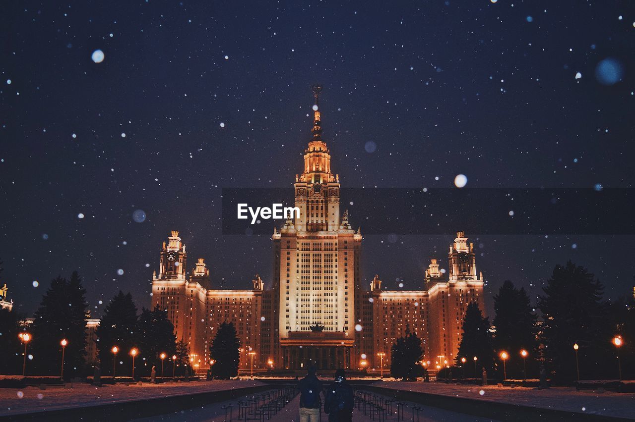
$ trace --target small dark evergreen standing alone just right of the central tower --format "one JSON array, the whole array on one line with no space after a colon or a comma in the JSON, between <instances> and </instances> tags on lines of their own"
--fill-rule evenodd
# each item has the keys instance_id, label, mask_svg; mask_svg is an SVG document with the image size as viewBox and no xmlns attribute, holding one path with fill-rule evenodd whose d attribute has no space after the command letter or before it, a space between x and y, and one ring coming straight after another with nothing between
<instances>
[{"instance_id":1,"label":"small dark evergreen standing alone just right of the central tower","mask_svg":"<svg viewBox=\"0 0 635 422\"><path fill-rule=\"evenodd\" d=\"M391 349L391 376L404 381L417 381L417 376L422 376L424 369L420 364L424 356L421 339L415 333L410 332L406 324L406 335L399 337L392 344Z\"/></svg>"}]
</instances>

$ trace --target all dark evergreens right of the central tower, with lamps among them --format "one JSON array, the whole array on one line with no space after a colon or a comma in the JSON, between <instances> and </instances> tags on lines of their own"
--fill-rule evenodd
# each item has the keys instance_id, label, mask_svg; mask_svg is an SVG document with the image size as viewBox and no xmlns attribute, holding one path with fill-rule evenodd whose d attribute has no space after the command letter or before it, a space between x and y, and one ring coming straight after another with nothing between
<instances>
[{"instance_id":1,"label":"all dark evergreens right of the central tower, with lamps among them","mask_svg":"<svg viewBox=\"0 0 635 422\"><path fill-rule=\"evenodd\" d=\"M448 362L453 376L480 378L485 368L498 379L538 378L544 367L555 383L570 384L578 373L581 380L617 379L621 366L623 379L635 378L634 298L605 300L603 293L594 274L571 261L554 267L535 307L524 288L505 281L491 324L476 302L467 306L458 353ZM406 332L392 346L392 376L421 374L423 356L420 340Z\"/></svg>"}]
</instances>

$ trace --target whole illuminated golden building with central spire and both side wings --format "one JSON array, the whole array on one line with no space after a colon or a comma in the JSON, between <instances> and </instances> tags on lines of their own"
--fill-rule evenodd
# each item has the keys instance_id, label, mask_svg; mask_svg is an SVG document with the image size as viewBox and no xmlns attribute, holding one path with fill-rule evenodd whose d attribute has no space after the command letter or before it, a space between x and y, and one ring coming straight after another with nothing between
<instances>
[{"instance_id":1,"label":"whole illuminated golden building with central spire and both side wings","mask_svg":"<svg viewBox=\"0 0 635 422\"><path fill-rule=\"evenodd\" d=\"M379 368L380 360L387 367L392 343L407 330L422 338L424 360L451 364L467 304L484 310L472 244L457 233L447 274L433 259L421 290L384 290L378 276L362 283L363 236L346 210L340 214L340 180L322 139L321 86L313 91L312 139L293 185L300 213L274 228L271 289L258 276L249 290L214 289L202 258L188 276L185 245L173 231L152 277L152 307L166 310L177 340L189 344L201 368L208 367L211 342L225 321L236 326L241 368L251 359L260 368Z\"/></svg>"}]
</instances>

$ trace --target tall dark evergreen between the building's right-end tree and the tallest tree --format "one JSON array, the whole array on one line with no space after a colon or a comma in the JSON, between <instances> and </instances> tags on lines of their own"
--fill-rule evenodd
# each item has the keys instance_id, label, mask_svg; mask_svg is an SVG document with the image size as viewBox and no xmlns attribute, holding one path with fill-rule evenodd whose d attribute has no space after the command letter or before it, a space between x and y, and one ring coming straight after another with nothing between
<instances>
[{"instance_id":1,"label":"tall dark evergreen between the building's right-end tree and the tallest tree","mask_svg":"<svg viewBox=\"0 0 635 422\"><path fill-rule=\"evenodd\" d=\"M527 350L525 358L527 373L537 376L538 343L536 340L537 317L531 310L530 299L524 288L518 290L507 280L494 296L496 316L492 321L496 328L493 338L495 351L509 354L507 361L508 378L523 376L521 350Z\"/></svg>"}]
</instances>

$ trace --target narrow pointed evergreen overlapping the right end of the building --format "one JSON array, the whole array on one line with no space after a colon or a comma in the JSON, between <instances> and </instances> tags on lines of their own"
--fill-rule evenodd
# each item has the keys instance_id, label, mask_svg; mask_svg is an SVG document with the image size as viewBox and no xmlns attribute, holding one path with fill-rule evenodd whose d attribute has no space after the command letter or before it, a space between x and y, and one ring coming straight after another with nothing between
<instances>
[{"instance_id":1,"label":"narrow pointed evergreen overlapping the right end of the building","mask_svg":"<svg viewBox=\"0 0 635 422\"><path fill-rule=\"evenodd\" d=\"M457 364L460 364L462 357L467 362L474 362L474 357L478 359L474 377L481 376L481 368L485 368L489 374L494 367L494 349L491 343L490 322L478 307L476 302L471 302L465 309L465 317L463 321L463 335L458 345L458 354L455 358ZM471 364L466 362L466 374L470 374Z\"/></svg>"}]
</instances>

